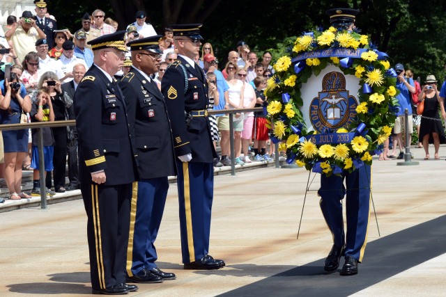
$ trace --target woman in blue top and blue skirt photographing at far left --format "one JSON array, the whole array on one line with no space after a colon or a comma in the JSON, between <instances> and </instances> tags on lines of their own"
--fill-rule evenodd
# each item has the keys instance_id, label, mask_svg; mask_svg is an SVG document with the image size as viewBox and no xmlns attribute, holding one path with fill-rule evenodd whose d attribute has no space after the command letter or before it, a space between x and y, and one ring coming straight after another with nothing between
<instances>
[{"instance_id":1,"label":"woman in blue top and blue skirt photographing at far left","mask_svg":"<svg viewBox=\"0 0 446 297\"><path fill-rule=\"evenodd\" d=\"M25 120L25 113L31 111L31 99L26 95L25 87L19 82L15 73L8 79L0 81L0 124L18 124ZM28 150L29 129L2 131L3 150L5 152L5 179L10 199L31 198L23 193L22 163Z\"/></svg>"}]
</instances>

